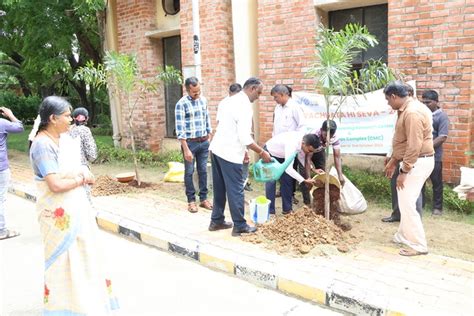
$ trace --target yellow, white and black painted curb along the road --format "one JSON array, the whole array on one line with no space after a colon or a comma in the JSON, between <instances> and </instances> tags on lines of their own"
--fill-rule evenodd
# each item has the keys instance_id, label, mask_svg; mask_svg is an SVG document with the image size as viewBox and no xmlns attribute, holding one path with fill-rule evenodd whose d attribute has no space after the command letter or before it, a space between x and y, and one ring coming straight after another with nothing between
<instances>
[{"instance_id":1,"label":"yellow, white and black painted curb along the road","mask_svg":"<svg viewBox=\"0 0 474 316\"><path fill-rule=\"evenodd\" d=\"M8 191L29 201L36 201L35 193L28 192L29 189L21 183L12 182ZM151 226L138 224L107 211L99 211L96 220L98 226L103 230L181 255L209 268L233 274L240 279L294 295L300 299L356 315L405 315L402 312L377 306L378 304L367 302L367 300L351 297L351 289L341 289L340 286L336 287L331 282L318 280L316 282L318 284L314 284L315 282L305 278L304 273L294 271L295 267L284 266L270 260L255 258L202 243L199 240L178 236Z\"/></svg>"}]
</instances>

